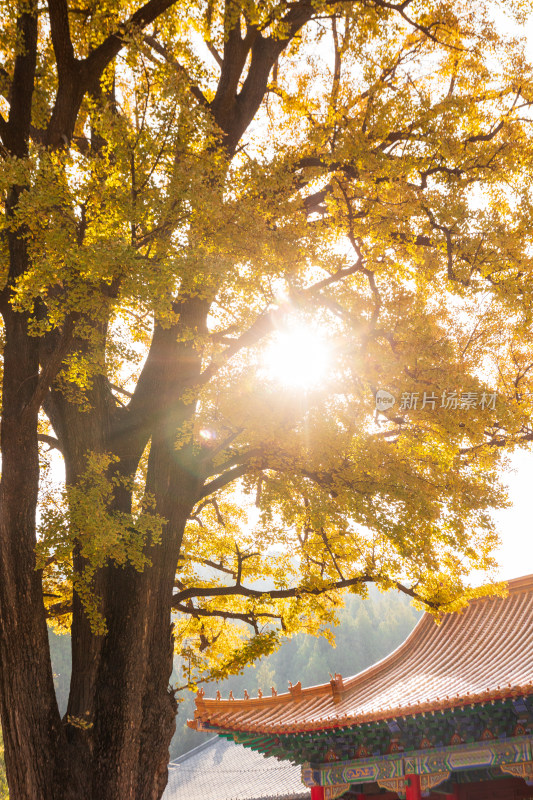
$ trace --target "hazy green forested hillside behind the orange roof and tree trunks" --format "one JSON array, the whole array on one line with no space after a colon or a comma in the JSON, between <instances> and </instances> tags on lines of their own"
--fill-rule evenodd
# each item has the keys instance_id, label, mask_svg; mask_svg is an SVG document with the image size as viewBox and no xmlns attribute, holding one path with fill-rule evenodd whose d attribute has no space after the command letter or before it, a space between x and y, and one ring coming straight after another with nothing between
<instances>
[{"instance_id":1,"label":"hazy green forested hillside behind the orange roof and tree trunks","mask_svg":"<svg viewBox=\"0 0 533 800\"><path fill-rule=\"evenodd\" d=\"M419 617L420 614L409 605L407 598L394 592L382 594L371 588L366 600L348 595L346 606L339 614L339 625L335 628L335 648L323 637L300 634L255 667L248 667L243 675L229 678L218 688L226 697L230 690L235 696L242 696L244 689L254 695L258 689L270 692L272 686L279 692L286 691L289 681L296 683L300 680L303 686L311 686L325 683L329 680L329 673L340 672L344 677L354 675L397 647ZM50 632L50 644L56 693L61 713L64 714L70 683L70 639ZM180 665L176 664L173 683L181 682L180 672ZM208 694L214 694L215 691L215 687L207 689ZM194 695L187 692L179 708L171 758L176 758L211 736L187 728L186 721L193 714ZM8 794L2 754L0 738L0 800L6 800Z\"/></svg>"}]
</instances>

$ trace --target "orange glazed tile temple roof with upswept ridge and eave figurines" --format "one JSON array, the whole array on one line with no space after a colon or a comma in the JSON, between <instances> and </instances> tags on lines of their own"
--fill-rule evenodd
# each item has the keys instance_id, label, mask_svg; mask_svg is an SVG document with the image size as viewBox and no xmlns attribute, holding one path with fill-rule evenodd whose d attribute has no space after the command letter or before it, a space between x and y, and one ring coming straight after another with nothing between
<instances>
[{"instance_id":1,"label":"orange glazed tile temple roof with upswept ridge and eave figurines","mask_svg":"<svg viewBox=\"0 0 533 800\"><path fill-rule=\"evenodd\" d=\"M357 646L354 643L354 646ZM258 734L347 727L533 694L533 575L440 625L426 614L393 653L348 679L276 697L198 697L193 728Z\"/></svg>"}]
</instances>

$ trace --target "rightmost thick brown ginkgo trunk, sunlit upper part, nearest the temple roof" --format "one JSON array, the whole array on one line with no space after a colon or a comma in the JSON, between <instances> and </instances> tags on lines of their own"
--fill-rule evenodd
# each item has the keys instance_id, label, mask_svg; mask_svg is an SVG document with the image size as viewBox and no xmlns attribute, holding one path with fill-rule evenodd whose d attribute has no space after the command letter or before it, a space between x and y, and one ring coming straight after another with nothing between
<instances>
[{"instance_id":1,"label":"rightmost thick brown ginkgo trunk, sunlit upper part, nearest the temple roof","mask_svg":"<svg viewBox=\"0 0 533 800\"><path fill-rule=\"evenodd\" d=\"M190 301L179 325L205 326L207 310L205 301ZM195 413L194 403L179 398L183 386L198 377L201 362L175 328L156 329L152 356L145 394L152 404L147 491L166 523L161 543L149 549L150 566L142 573L112 567L106 579L109 632L96 688L93 773L93 795L102 798L159 800L175 729L171 603L183 532L201 485L190 446L176 450L175 442Z\"/></svg>"}]
</instances>

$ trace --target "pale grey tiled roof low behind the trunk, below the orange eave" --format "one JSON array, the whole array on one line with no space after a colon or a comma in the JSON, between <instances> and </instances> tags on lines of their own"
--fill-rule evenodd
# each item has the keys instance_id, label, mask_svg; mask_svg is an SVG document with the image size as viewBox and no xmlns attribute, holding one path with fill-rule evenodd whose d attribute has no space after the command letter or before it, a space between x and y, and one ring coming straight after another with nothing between
<instances>
[{"instance_id":1,"label":"pale grey tiled roof low behind the trunk, below the orange eave","mask_svg":"<svg viewBox=\"0 0 533 800\"><path fill-rule=\"evenodd\" d=\"M218 736L168 765L162 800L308 800L301 769Z\"/></svg>"}]
</instances>

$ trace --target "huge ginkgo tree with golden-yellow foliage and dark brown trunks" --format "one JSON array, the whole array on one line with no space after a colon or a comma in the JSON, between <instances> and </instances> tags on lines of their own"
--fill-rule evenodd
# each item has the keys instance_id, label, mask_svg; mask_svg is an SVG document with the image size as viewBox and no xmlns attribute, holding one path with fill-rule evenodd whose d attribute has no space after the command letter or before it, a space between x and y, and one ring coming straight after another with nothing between
<instances>
[{"instance_id":1,"label":"huge ginkgo tree with golden-yellow foliage and dark brown trunks","mask_svg":"<svg viewBox=\"0 0 533 800\"><path fill-rule=\"evenodd\" d=\"M343 590L438 614L493 576L533 436L531 71L482 3L0 14L8 781L153 800L175 651L195 685Z\"/></svg>"}]
</instances>

